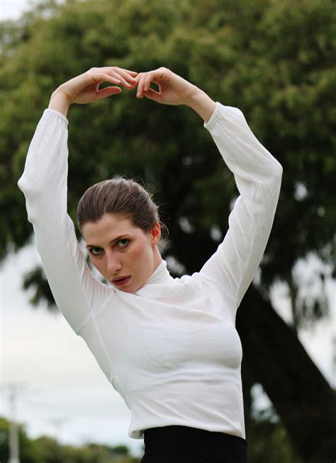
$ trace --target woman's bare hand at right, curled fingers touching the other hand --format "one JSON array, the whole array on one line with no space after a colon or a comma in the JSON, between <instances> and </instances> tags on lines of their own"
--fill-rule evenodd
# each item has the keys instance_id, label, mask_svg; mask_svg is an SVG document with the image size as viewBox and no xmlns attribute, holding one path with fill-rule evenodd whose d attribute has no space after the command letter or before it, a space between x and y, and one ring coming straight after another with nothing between
<instances>
[{"instance_id":1,"label":"woman's bare hand at right, curled fingers touching the other hand","mask_svg":"<svg viewBox=\"0 0 336 463\"><path fill-rule=\"evenodd\" d=\"M137 98L145 96L164 105L188 105L194 94L200 91L167 67L140 72L135 81L138 82ZM159 91L150 88L152 82L159 86Z\"/></svg>"}]
</instances>

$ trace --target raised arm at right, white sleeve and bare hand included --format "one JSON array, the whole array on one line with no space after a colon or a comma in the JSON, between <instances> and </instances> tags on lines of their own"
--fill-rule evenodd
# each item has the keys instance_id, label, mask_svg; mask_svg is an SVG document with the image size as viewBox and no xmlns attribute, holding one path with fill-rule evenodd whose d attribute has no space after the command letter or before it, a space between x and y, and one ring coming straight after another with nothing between
<instances>
[{"instance_id":1,"label":"raised arm at right, white sleeve and bare hand included","mask_svg":"<svg viewBox=\"0 0 336 463\"><path fill-rule=\"evenodd\" d=\"M138 98L194 109L235 176L240 196L230 214L228 232L200 273L223 288L237 309L269 238L282 167L254 137L239 109L215 103L200 88L166 68L140 73L135 79ZM151 82L159 86L158 92L150 88Z\"/></svg>"}]
</instances>

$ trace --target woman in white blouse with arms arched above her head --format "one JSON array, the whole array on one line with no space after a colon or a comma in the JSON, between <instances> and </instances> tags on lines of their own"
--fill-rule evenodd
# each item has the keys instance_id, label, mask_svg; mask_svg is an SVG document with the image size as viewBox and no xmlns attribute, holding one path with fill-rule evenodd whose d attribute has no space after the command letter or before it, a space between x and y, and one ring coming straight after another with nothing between
<instances>
[{"instance_id":1,"label":"woman in white blouse with arms arched above her head","mask_svg":"<svg viewBox=\"0 0 336 463\"><path fill-rule=\"evenodd\" d=\"M111 86L99 90L103 81ZM67 110L120 86L194 109L235 175L228 233L199 273L169 275L157 207L125 179L93 185L79 202L91 262L111 285L86 265L67 215ZM240 110L169 69L93 68L52 93L18 185L57 305L130 408L129 435L145 438L142 463L247 461L235 314L267 244L281 173Z\"/></svg>"}]
</instances>

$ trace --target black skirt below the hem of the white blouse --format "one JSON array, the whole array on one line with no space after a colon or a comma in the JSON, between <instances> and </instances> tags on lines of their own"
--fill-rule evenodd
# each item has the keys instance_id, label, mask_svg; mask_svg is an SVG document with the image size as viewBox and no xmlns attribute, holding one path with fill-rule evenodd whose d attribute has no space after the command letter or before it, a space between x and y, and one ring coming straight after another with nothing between
<instances>
[{"instance_id":1,"label":"black skirt below the hem of the white blouse","mask_svg":"<svg viewBox=\"0 0 336 463\"><path fill-rule=\"evenodd\" d=\"M247 463L245 439L188 426L144 431L145 455L140 463Z\"/></svg>"}]
</instances>

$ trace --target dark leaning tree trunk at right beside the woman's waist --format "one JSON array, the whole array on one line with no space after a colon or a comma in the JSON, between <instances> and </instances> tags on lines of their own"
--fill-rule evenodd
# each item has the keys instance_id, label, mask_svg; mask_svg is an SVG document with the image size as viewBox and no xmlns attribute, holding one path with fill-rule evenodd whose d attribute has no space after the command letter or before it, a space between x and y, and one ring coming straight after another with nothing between
<instances>
[{"instance_id":1,"label":"dark leaning tree trunk at right beside the woman's waist","mask_svg":"<svg viewBox=\"0 0 336 463\"><path fill-rule=\"evenodd\" d=\"M252 285L237 312L237 331L243 362L264 387L298 455L309 463L334 462L335 392L294 331Z\"/></svg>"}]
</instances>

